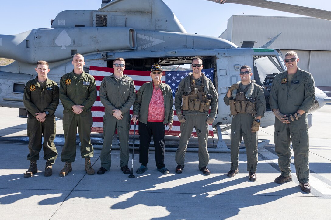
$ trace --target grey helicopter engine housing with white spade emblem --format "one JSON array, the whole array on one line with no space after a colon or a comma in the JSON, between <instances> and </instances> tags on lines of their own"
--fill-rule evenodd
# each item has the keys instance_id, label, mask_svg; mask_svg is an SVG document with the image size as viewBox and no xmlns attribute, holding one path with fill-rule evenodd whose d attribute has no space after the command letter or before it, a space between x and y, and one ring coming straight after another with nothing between
<instances>
[{"instance_id":1,"label":"grey helicopter engine housing with white spade emblem","mask_svg":"<svg viewBox=\"0 0 331 220\"><path fill-rule=\"evenodd\" d=\"M66 60L76 53L134 50L137 47L136 31L129 27L33 29L16 35L0 35L0 42L0 57L30 64L38 60ZM54 47L52 50L56 53L41 53L50 47Z\"/></svg>"}]
</instances>

